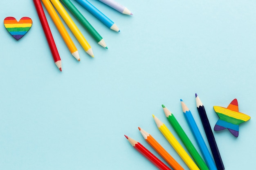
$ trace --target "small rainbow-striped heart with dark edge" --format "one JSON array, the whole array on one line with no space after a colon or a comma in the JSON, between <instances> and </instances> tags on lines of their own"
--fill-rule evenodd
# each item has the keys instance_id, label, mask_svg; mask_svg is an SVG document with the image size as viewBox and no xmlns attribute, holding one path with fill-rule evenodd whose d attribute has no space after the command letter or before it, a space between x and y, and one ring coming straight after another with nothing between
<instances>
[{"instance_id":1,"label":"small rainbow-striped heart with dark edge","mask_svg":"<svg viewBox=\"0 0 256 170\"><path fill-rule=\"evenodd\" d=\"M20 40L31 28L32 20L29 17L22 17L18 22L14 17L6 17L4 26L16 40Z\"/></svg>"}]
</instances>

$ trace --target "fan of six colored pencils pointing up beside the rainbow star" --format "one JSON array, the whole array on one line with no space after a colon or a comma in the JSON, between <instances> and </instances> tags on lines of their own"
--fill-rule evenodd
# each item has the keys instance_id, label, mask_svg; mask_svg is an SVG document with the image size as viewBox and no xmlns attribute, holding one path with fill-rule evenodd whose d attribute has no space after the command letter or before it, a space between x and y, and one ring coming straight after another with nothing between
<instances>
[{"instance_id":1,"label":"fan of six colored pencils pointing up beside the rainbow star","mask_svg":"<svg viewBox=\"0 0 256 170\"><path fill-rule=\"evenodd\" d=\"M182 145L177 141L177 139L171 133L171 131L166 127L166 125L162 121L160 121L157 117L155 117L155 115L153 115L157 128L162 133L162 135L164 135L166 140L171 144L173 149L177 152L177 154L181 157L181 159L184 161L184 163L188 166L190 170L225 170L222 159L220 157L220 152L218 150L216 141L213 136L213 132L211 130L211 126L209 124L209 120L204 110L204 106L202 105L202 102L200 101L197 94L195 94L195 97L196 97L198 113L200 115L202 124L204 126L204 131L207 135L207 139L211 148L213 158L211 157L210 151L208 150L204 142L204 139L202 138L202 135L198 129L198 126L195 123L195 120L193 119L191 111L187 108L187 106L184 104L182 100L181 100L182 111L189 125L189 128L193 133L195 141L197 142L200 148L200 153L202 153L202 157L200 156L199 152L196 150L191 140L182 129L182 126L178 123L177 119L174 117L173 113L171 113L164 105L162 105L162 108L164 110L166 118L168 119L171 126L174 128L175 132L180 137L181 141L183 142L186 148L183 148ZM214 107L215 107L214 109L216 110L216 106ZM156 139L154 139L145 130L141 128L139 128L139 130L141 132L141 135L147 141L147 143L159 154L159 156L161 156L168 163L169 167L167 165L164 165L164 163L160 161L157 158L157 156L153 155L153 153L150 152L148 149L146 149L144 146L142 146L142 144L140 144L139 142L133 139L130 139L125 135L135 149L137 149L142 155L144 155L160 170L166 170L170 168L173 168L173 170L184 170L184 168L182 168L182 166L180 166L180 164L175 159L173 159L171 154L169 154L158 143Z\"/></svg>"}]
</instances>

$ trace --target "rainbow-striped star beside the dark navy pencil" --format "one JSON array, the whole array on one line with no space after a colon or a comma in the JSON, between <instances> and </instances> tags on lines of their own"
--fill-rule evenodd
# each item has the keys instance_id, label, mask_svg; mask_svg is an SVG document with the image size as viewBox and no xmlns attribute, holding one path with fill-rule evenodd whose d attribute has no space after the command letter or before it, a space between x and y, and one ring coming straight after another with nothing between
<instances>
[{"instance_id":1,"label":"rainbow-striped star beside the dark navy pencil","mask_svg":"<svg viewBox=\"0 0 256 170\"><path fill-rule=\"evenodd\" d=\"M235 137L238 137L239 124L251 119L248 115L238 111L237 99L234 99L227 108L213 106L213 109L220 117L214 126L214 130L228 129Z\"/></svg>"}]
</instances>

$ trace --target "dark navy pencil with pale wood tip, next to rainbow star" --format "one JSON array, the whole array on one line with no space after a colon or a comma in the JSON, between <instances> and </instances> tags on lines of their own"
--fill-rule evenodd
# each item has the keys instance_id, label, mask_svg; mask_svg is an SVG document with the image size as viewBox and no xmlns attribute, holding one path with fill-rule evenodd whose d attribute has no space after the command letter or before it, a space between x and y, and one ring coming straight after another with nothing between
<instances>
[{"instance_id":1,"label":"dark navy pencil with pale wood tip, next to rainbow star","mask_svg":"<svg viewBox=\"0 0 256 170\"><path fill-rule=\"evenodd\" d=\"M217 146L217 143L215 141L215 137L213 135L213 132L211 130L211 125L209 123L206 111L204 109L204 105L202 104L200 98L198 97L198 95L195 93L195 102L196 102L196 107L198 108L198 113L200 115L200 119L202 121L203 127L204 127L204 132L205 135L208 139L210 148L211 148L211 152L213 155L213 159L216 163L217 169L218 170L225 170L224 168L224 164L222 162L222 159L220 157L220 152Z\"/></svg>"}]
</instances>

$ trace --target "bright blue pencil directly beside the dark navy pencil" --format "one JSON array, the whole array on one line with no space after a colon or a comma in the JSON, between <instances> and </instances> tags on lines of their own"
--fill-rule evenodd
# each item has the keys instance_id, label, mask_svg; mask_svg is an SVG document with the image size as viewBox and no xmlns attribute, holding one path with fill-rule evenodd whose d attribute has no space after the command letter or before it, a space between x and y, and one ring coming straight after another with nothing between
<instances>
[{"instance_id":1,"label":"bright blue pencil directly beside the dark navy pencil","mask_svg":"<svg viewBox=\"0 0 256 170\"><path fill-rule=\"evenodd\" d=\"M182 105L182 110L184 113L184 116L186 117L186 121L189 124L189 127L195 137L195 140L198 143L198 146L202 152L202 155L204 157L204 160L206 161L207 166L209 167L210 170L217 170L216 165L211 157L211 154L204 142L204 139L198 129L197 124L195 123L195 119L193 118L191 111L189 108L184 104L182 99L180 99L181 105Z\"/></svg>"}]
</instances>

